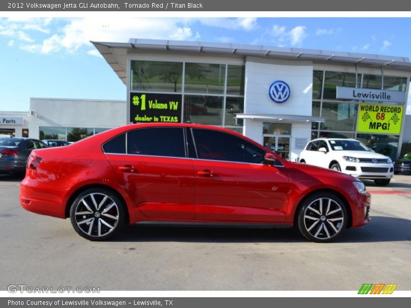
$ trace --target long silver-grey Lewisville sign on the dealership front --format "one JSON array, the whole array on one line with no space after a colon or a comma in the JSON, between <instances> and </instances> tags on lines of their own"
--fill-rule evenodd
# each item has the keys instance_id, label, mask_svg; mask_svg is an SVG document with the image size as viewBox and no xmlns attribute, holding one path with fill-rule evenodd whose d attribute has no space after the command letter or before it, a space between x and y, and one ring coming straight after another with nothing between
<instances>
[{"instance_id":1,"label":"long silver-grey Lewisville sign on the dealership front","mask_svg":"<svg viewBox=\"0 0 411 308\"><path fill-rule=\"evenodd\" d=\"M337 99L370 102L405 103L407 95L401 91L388 91L367 88L337 87Z\"/></svg>"}]
</instances>

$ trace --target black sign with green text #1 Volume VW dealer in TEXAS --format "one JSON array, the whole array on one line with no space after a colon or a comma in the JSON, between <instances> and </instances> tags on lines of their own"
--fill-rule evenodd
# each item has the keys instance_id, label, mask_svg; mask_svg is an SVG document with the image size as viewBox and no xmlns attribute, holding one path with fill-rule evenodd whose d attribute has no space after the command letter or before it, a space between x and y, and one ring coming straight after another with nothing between
<instances>
[{"instance_id":1,"label":"black sign with green text #1 Volume VW dealer in TEXAS","mask_svg":"<svg viewBox=\"0 0 411 308\"><path fill-rule=\"evenodd\" d=\"M181 122L181 94L130 92L130 122Z\"/></svg>"}]
</instances>

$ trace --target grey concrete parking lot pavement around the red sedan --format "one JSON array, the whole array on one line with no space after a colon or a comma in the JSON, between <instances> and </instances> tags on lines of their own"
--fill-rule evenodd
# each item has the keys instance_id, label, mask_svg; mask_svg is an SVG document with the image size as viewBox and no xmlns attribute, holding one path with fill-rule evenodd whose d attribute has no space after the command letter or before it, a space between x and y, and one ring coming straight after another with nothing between
<instances>
[{"instance_id":1,"label":"grey concrete parking lot pavement around the red sedan","mask_svg":"<svg viewBox=\"0 0 411 308\"><path fill-rule=\"evenodd\" d=\"M90 242L68 219L20 207L21 179L0 176L0 290L10 284L106 290L411 290L411 176L371 191L371 222L338 241L292 229L127 227Z\"/></svg>"}]
</instances>

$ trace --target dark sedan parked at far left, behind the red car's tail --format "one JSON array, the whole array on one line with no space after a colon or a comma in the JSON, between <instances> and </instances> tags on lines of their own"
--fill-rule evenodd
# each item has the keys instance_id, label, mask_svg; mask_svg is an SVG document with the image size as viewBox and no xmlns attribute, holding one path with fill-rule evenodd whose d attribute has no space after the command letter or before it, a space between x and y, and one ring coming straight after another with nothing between
<instances>
[{"instance_id":1,"label":"dark sedan parked at far left, behind the red car's tail","mask_svg":"<svg viewBox=\"0 0 411 308\"><path fill-rule=\"evenodd\" d=\"M0 138L0 173L24 174L31 151L46 147L36 139Z\"/></svg>"}]
</instances>

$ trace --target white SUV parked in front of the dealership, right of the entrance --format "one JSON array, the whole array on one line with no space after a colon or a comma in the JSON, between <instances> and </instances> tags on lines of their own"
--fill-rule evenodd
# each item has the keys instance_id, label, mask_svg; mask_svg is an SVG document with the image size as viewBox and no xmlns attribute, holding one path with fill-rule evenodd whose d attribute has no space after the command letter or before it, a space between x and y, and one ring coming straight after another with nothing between
<instances>
[{"instance_id":1,"label":"white SUV parked in front of the dealership, right of the entrance","mask_svg":"<svg viewBox=\"0 0 411 308\"><path fill-rule=\"evenodd\" d=\"M394 165L389 157L375 153L354 139L314 139L300 153L298 161L374 180L377 185L388 185L394 176Z\"/></svg>"}]
</instances>

